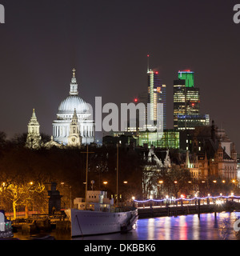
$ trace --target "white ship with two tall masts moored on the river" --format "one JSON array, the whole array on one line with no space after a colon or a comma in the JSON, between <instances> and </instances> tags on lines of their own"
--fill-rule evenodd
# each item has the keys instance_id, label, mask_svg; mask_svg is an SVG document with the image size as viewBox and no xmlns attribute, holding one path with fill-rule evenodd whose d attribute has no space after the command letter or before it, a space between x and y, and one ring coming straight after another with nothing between
<instances>
[{"instance_id":1,"label":"white ship with two tall masts moored on the river","mask_svg":"<svg viewBox=\"0 0 240 256\"><path fill-rule=\"evenodd\" d=\"M118 146L117 146L118 150ZM71 223L71 236L112 234L132 230L138 220L138 209L118 207L118 154L117 154L117 203L107 198L106 191L87 190L88 154L86 151L86 198L79 200L78 209L65 210ZM78 198L80 199L80 198Z\"/></svg>"}]
</instances>

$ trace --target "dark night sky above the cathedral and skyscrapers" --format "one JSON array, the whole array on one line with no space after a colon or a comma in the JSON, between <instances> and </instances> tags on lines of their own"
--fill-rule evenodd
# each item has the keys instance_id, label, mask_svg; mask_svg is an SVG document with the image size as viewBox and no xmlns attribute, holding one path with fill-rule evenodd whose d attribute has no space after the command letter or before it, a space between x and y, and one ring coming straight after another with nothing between
<instances>
[{"instance_id":1,"label":"dark night sky above the cathedral and skyscrapers","mask_svg":"<svg viewBox=\"0 0 240 256\"><path fill-rule=\"evenodd\" d=\"M0 130L27 131L33 108L52 133L58 105L77 70L80 96L128 103L146 90L146 55L167 86L173 128L173 80L195 72L202 114L223 126L240 151L240 24L231 0L0 0Z\"/></svg>"}]
</instances>

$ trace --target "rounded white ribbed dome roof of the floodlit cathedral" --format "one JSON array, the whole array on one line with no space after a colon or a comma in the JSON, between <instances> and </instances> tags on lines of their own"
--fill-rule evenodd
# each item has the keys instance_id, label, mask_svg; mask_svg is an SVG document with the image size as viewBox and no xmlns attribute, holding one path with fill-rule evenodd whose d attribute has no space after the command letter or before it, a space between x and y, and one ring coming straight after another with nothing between
<instances>
[{"instance_id":1,"label":"rounded white ribbed dome roof of the floodlit cathedral","mask_svg":"<svg viewBox=\"0 0 240 256\"><path fill-rule=\"evenodd\" d=\"M74 109L76 109L77 113L86 113L89 110L89 107L78 95L70 95L61 102L58 107L58 113L74 113Z\"/></svg>"}]
</instances>

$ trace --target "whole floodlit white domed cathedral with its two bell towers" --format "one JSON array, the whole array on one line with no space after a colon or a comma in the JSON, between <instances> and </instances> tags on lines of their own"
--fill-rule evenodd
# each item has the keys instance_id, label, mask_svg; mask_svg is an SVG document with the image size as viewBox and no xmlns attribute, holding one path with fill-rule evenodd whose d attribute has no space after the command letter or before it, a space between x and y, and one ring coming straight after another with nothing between
<instances>
[{"instance_id":1,"label":"whole floodlit white domed cathedral with its two bell towers","mask_svg":"<svg viewBox=\"0 0 240 256\"><path fill-rule=\"evenodd\" d=\"M28 124L26 147L39 149L42 146L63 148L64 146L82 146L95 141L95 123L92 120L90 106L78 96L78 83L73 70L70 82L70 94L58 107L57 119L53 122L53 136L50 142L41 142L40 126L35 111Z\"/></svg>"}]
</instances>

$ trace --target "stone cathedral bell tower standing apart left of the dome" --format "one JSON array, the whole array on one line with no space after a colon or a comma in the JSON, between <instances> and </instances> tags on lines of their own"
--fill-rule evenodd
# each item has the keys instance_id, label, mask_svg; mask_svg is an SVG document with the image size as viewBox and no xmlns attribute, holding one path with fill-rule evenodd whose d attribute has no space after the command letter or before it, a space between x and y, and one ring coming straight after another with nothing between
<instances>
[{"instance_id":1,"label":"stone cathedral bell tower standing apart left of the dome","mask_svg":"<svg viewBox=\"0 0 240 256\"><path fill-rule=\"evenodd\" d=\"M30 122L28 123L28 133L26 138L26 147L32 150L38 150L42 145L41 136L40 136L40 126L35 114L35 110L33 111L33 115L30 118Z\"/></svg>"}]
</instances>

